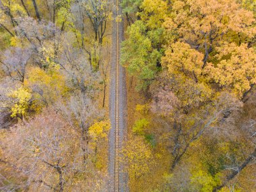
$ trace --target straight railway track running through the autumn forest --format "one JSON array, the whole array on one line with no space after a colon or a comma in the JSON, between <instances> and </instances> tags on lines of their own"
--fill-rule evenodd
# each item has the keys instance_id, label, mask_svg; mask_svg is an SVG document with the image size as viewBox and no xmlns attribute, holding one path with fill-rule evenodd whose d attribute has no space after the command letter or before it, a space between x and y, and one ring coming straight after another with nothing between
<instances>
[{"instance_id":1,"label":"straight railway track running through the autumn forest","mask_svg":"<svg viewBox=\"0 0 256 192\"><path fill-rule=\"evenodd\" d=\"M115 16L119 12L119 0L115 1ZM119 23L115 22L115 162L114 162L114 191L120 191L120 67L119 67Z\"/></svg>"}]
</instances>

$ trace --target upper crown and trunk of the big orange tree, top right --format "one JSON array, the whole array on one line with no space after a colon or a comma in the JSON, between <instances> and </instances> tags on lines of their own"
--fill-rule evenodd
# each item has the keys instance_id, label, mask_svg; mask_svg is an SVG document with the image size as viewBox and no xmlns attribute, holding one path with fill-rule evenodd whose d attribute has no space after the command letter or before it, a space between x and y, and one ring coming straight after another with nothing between
<instances>
[{"instance_id":1,"label":"upper crown and trunk of the big orange tree, top right","mask_svg":"<svg viewBox=\"0 0 256 192\"><path fill-rule=\"evenodd\" d=\"M256 32L253 12L234 0L174 1L170 15L164 26L204 54L201 67L205 67L220 41L228 41L234 34L252 38Z\"/></svg>"}]
</instances>

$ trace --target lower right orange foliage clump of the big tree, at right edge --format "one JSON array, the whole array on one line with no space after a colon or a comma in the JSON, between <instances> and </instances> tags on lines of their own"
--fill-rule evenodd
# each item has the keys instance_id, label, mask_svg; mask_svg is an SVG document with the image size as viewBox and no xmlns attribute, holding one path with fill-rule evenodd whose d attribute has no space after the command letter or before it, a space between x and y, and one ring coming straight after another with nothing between
<instances>
[{"instance_id":1,"label":"lower right orange foliage clump of the big tree, at right edge","mask_svg":"<svg viewBox=\"0 0 256 192\"><path fill-rule=\"evenodd\" d=\"M225 43L217 48L220 60L217 65L207 66L210 79L220 86L232 88L233 92L241 98L245 92L256 83L256 53L247 44L237 46L234 43Z\"/></svg>"}]
</instances>

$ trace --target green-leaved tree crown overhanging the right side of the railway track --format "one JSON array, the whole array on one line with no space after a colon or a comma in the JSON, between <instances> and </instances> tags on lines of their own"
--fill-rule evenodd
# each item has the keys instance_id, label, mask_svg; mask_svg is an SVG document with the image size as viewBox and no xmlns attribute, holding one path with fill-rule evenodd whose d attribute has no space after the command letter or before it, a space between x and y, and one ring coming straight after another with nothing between
<instances>
[{"instance_id":1,"label":"green-leaved tree crown overhanging the right side of the railway track","mask_svg":"<svg viewBox=\"0 0 256 192\"><path fill-rule=\"evenodd\" d=\"M127 34L129 38L122 44L121 63L127 67L130 75L137 77L137 89L146 89L159 70L162 53L154 48L154 35L147 32L143 22L135 22L128 28Z\"/></svg>"}]
</instances>

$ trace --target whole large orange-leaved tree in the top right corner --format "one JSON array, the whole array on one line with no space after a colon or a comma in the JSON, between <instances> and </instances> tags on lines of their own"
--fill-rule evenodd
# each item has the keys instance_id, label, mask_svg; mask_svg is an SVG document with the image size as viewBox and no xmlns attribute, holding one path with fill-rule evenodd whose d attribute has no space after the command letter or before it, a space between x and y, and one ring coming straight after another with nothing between
<instances>
[{"instance_id":1,"label":"whole large orange-leaved tree in the top right corner","mask_svg":"<svg viewBox=\"0 0 256 192\"><path fill-rule=\"evenodd\" d=\"M241 98L255 84L255 51L243 43L255 36L254 22L234 0L174 1L164 26L178 42L162 62L171 74L231 87Z\"/></svg>"}]
</instances>

